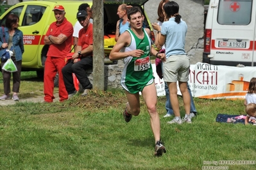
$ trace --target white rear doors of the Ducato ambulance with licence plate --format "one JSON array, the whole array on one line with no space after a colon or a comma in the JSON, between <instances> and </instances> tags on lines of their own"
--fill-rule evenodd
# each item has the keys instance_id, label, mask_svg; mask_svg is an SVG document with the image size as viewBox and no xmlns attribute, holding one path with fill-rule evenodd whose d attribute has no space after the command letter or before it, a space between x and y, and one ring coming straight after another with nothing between
<instances>
[{"instance_id":1,"label":"white rear doors of the Ducato ambulance with licence plate","mask_svg":"<svg viewBox=\"0 0 256 170\"><path fill-rule=\"evenodd\" d=\"M255 49L252 5L255 5L252 0L219 1L212 17L212 60L252 63Z\"/></svg>"}]
</instances>

